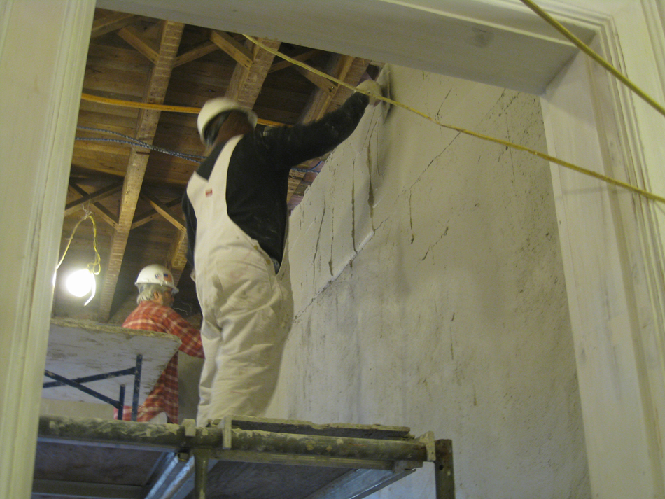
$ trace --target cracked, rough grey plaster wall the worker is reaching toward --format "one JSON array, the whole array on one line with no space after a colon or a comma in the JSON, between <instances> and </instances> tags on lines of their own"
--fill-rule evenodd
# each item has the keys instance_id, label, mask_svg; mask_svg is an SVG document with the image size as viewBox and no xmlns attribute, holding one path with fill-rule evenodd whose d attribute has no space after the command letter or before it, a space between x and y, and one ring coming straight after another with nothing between
<instances>
[{"instance_id":1,"label":"cracked, rough grey plaster wall the worker is reaching toward","mask_svg":"<svg viewBox=\"0 0 665 499\"><path fill-rule=\"evenodd\" d=\"M546 150L538 97L386 67L393 99ZM292 214L290 263L268 416L433 430L457 498L591 496L547 162L374 108ZM433 498L431 465L376 495Z\"/></svg>"}]
</instances>

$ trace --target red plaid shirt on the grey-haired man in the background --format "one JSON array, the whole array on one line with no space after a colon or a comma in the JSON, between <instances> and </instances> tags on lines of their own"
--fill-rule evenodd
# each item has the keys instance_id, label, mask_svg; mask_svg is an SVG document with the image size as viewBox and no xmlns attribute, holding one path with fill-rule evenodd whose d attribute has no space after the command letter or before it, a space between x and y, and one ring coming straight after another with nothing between
<instances>
[{"instance_id":1,"label":"red plaid shirt on the grey-haired man in the background","mask_svg":"<svg viewBox=\"0 0 665 499\"><path fill-rule=\"evenodd\" d=\"M158 305L150 300L141 302L127 316L123 328L142 329L147 331L168 332L182 340L180 351L193 357L203 358L201 332L193 328L171 307ZM160 412L166 412L172 423L178 423L178 353L169 363L157 380L155 388L139 406L137 421L150 421ZM116 416L117 417L117 416ZM132 418L132 409L125 409L123 419Z\"/></svg>"}]
</instances>

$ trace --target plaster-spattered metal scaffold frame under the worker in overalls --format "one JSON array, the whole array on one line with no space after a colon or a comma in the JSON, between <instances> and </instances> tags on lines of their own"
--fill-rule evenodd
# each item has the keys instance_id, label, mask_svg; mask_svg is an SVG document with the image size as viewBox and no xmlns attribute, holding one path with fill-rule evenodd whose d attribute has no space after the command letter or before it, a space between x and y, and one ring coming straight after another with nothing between
<instances>
[{"instance_id":1,"label":"plaster-spattered metal scaffold frame under the worker in overalls","mask_svg":"<svg viewBox=\"0 0 665 499\"><path fill-rule=\"evenodd\" d=\"M330 427L323 431L319 429L323 427L300 421L293 424L291 421L227 417L216 423L201 428L195 426L193 420L186 420L182 425L155 425L41 416L38 435L39 442L85 442L87 446L169 453L169 458L162 460L155 470L150 486L140 493L136 488L134 495L127 497L179 499L188 496L193 489L194 498L204 499L209 470L219 461L349 469L307 499L360 499L429 461L434 465L436 498L454 499L455 496L451 441L434 440L431 432L419 438L411 435L367 438L337 436L329 431ZM384 427L363 428L380 432ZM48 480L35 481L34 494L47 493L45 482Z\"/></svg>"}]
</instances>

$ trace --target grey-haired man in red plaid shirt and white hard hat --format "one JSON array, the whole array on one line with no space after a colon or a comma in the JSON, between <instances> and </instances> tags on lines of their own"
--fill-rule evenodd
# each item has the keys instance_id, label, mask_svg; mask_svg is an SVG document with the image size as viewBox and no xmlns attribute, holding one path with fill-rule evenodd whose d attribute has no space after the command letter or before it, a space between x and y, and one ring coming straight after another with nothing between
<instances>
[{"instance_id":1,"label":"grey-haired man in red plaid shirt and white hard hat","mask_svg":"<svg viewBox=\"0 0 665 499\"><path fill-rule=\"evenodd\" d=\"M162 265L148 265L141 270L136 282L139 288L139 306L127 316L123 328L167 332L182 340L180 351L189 356L203 358L201 333L171 308L173 295L178 293L173 275ZM163 413L163 414L162 414ZM123 419L131 419L125 410ZM178 352L169 360L148 395L139 406L137 421L178 423Z\"/></svg>"}]
</instances>

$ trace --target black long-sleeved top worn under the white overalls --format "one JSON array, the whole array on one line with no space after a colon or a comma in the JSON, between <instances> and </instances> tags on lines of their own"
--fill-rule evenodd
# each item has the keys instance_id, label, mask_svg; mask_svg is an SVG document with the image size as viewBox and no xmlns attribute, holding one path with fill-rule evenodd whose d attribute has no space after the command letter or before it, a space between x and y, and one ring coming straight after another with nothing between
<instances>
[{"instance_id":1,"label":"black long-sleeved top worn under the white overalls","mask_svg":"<svg viewBox=\"0 0 665 499\"><path fill-rule=\"evenodd\" d=\"M283 257L290 169L328 153L347 139L358 126L368 103L365 95L353 94L321 120L308 125L255 130L240 139L233 150L226 186L228 215L274 260L281 262ZM210 178L224 145L212 150L197 174ZM193 266L197 221L187 191L182 207L187 221L187 258Z\"/></svg>"}]
</instances>

